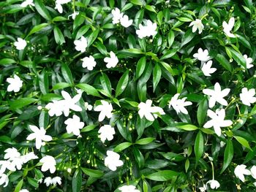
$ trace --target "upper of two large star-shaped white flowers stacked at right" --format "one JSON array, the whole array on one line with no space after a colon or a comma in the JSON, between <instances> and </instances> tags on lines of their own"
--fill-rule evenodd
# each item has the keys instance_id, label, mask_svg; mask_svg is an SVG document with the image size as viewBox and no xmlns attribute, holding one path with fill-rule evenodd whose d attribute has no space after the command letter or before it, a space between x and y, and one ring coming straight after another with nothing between
<instances>
[{"instance_id":1,"label":"upper of two large star-shaped white flowers stacked at right","mask_svg":"<svg viewBox=\"0 0 256 192\"><path fill-rule=\"evenodd\" d=\"M219 82L216 82L214 85L214 90L206 88L206 89L203 89L203 93L210 96L210 99L209 99L210 108L214 107L216 102L224 106L227 106L227 101L223 99L223 97L227 96L227 94L230 93L230 88L225 88L222 90L222 88L219 85Z\"/></svg>"}]
</instances>

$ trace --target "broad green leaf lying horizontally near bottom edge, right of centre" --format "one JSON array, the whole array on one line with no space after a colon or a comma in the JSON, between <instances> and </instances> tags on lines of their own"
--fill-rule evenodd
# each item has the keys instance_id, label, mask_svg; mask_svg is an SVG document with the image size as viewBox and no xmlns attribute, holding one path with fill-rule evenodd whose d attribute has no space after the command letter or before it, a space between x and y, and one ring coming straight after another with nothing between
<instances>
[{"instance_id":1,"label":"broad green leaf lying horizontally near bottom edge, right of centre","mask_svg":"<svg viewBox=\"0 0 256 192\"><path fill-rule=\"evenodd\" d=\"M155 181L167 181L173 179L173 177L178 176L178 172L174 172L171 170L164 170L155 172L153 174L149 174L145 176L148 180L155 180Z\"/></svg>"}]
</instances>

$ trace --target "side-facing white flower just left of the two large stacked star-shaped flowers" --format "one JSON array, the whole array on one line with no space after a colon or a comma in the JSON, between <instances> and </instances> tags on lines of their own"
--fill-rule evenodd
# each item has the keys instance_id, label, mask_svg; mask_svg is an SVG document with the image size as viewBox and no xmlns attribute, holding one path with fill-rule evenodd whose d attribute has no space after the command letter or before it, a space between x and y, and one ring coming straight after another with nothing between
<instances>
[{"instance_id":1,"label":"side-facing white flower just left of the two large stacked star-shaped flowers","mask_svg":"<svg viewBox=\"0 0 256 192\"><path fill-rule=\"evenodd\" d=\"M192 102L186 101L187 97L184 97L182 99L178 99L178 96L180 94L176 93L172 99L170 99L169 108L170 106L173 107L174 110L176 110L177 113L182 112L184 114L188 114L186 110L186 106L192 105Z\"/></svg>"}]
</instances>

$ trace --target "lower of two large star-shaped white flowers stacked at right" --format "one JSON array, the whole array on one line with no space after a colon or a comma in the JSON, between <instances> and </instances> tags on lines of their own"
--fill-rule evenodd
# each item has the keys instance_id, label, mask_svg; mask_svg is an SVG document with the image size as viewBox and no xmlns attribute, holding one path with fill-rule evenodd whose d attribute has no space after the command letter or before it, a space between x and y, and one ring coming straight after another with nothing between
<instances>
[{"instance_id":1,"label":"lower of two large star-shaped white flowers stacked at right","mask_svg":"<svg viewBox=\"0 0 256 192\"><path fill-rule=\"evenodd\" d=\"M217 109L216 112L213 112L212 110L207 110L207 115L211 118L211 120L208 120L206 124L204 124L203 128L214 127L214 131L217 134L217 136L220 136L222 134L221 127L227 127L233 124L231 120L224 120L224 109Z\"/></svg>"}]
</instances>

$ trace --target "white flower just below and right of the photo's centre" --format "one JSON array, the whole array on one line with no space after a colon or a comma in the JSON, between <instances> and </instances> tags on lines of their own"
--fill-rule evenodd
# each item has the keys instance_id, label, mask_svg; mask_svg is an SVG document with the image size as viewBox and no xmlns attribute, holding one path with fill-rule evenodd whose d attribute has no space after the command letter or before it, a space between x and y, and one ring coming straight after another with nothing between
<instances>
[{"instance_id":1,"label":"white flower just below and right of the photo's centre","mask_svg":"<svg viewBox=\"0 0 256 192\"><path fill-rule=\"evenodd\" d=\"M154 118L157 118L157 114L159 113L160 115L165 115L165 112L162 110L161 107L151 107L152 101L148 99L146 103L140 102L138 105L139 108L139 115L140 118L145 118L150 121L154 121ZM153 113L153 115L151 114Z\"/></svg>"}]
</instances>

